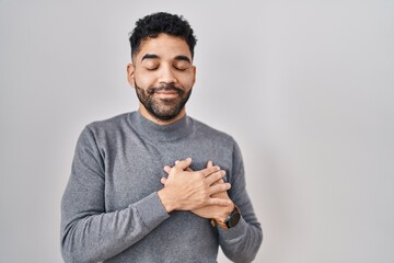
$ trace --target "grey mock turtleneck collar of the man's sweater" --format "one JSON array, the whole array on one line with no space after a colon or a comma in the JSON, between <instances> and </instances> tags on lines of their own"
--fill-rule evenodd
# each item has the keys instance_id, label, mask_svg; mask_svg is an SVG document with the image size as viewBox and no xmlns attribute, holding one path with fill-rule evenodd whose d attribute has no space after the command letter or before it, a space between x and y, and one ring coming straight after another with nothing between
<instances>
[{"instance_id":1,"label":"grey mock turtleneck collar of the man's sweater","mask_svg":"<svg viewBox=\"0 0 394 263\"><path fill-rule=\"evenodd\" d=\"M175 141L192 133L193 119L187 115L172 124L159 125L141 115L139 111L130 114L131 127L150 141Z\"/></svg>"}]
</instances>

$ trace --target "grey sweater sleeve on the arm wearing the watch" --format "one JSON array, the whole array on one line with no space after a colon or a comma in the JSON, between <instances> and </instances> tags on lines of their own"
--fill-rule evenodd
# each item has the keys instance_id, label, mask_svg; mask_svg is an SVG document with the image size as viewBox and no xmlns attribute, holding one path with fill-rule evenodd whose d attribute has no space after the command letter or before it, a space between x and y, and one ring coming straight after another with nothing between
<instances>
[{"instance_id":1,"label":"grey sweater sleeve on the arm wearing the watch","mask_svg":"<svg viewBox=\"0 0 394 263\"><path fill-rule=\"evenodd\" d=\"M229 180L232 185L229 196L240 208L242 217L233 228L218 227L219 244L231 261L252 262L262 244L263 231L246 193L244 167L236 142L234 142L233 169Z\"/></svg>"}]
</instances>

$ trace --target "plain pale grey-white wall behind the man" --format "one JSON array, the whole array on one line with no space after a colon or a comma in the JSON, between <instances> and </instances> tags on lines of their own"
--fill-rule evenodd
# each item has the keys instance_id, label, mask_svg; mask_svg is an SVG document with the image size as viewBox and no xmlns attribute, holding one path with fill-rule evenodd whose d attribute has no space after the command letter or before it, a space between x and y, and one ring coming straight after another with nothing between
<instances>
[{"instance_id":1,"label":"plain pale grey-white wall behind the man","mask_svg":"<svg viewBox=\"0 0 394 263\"><path fill-rule=\"evenodd\" d=\"M137 108L128 33L155 11L198 37L188 114L240 144L255 262L393 263L391 0L0 0L0 262L61 262L77 138Z\"/></svg>"}]
</instances>

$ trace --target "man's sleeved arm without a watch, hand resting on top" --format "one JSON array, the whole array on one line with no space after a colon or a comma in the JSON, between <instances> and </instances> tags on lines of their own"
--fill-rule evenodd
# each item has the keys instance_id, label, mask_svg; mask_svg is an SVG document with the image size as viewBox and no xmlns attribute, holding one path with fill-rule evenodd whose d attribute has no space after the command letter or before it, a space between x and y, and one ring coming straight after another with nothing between
<instances>
[{"instance_id":1,"label":"man's sleeved arm without a watch, hand resting on top","mask_svg":"<svg viewBox=\"0 0 394 263\"><path fill-rule=\"evenodd\" d=\"M210 197L210 194L229 188L228 184L210 186L210 180L222 178L220 170L196 172L189 181L185 180L189 176L179 173L183 172L181 169L171 175L171 185L165 191L152 193L125 209L107 213L104 162L94 134L86 127L78 140L61 202L61 251L66 262L109 259L138 242L174 209L227 204L227 201Z\"/></svg>"}]
</instances>

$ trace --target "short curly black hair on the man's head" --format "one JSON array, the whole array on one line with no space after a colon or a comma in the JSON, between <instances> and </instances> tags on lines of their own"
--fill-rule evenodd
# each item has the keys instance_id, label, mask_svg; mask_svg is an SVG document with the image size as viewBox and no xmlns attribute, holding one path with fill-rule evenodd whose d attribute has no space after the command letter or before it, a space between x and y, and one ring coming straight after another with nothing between
<instances>
[{"instance_id":1,"label":"short curly black hair on the man's head","mask_svg":"<svg viewBox=\"0 0 394 263\"><path fill-rule=\"evenodd\" d=\"M192 58L194 57L197 39L189 23L182 15L165 12L152 13L136 22L136 27L129 37L131 57L139 52L141 41L147 37L154 38L160 33L183 38L189 47Z\"/></svg>"}]
</instances>

